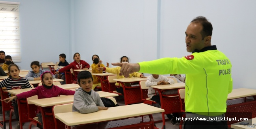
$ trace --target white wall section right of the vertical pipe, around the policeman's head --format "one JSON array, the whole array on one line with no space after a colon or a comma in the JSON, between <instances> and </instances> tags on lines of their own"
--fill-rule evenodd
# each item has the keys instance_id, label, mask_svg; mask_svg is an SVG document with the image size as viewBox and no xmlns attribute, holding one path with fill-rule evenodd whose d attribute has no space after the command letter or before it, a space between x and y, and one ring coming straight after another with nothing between
<instances>
[{"instance_id":1,"label":"white wall section right of the vertical pipe, around the policeman's head","mask_svg":"<svg viewBox=\"0 0 256 129\"><path fill-rule=\"evenodd\" d=\"M187 25L205 16L213 25L211 44L232 63L233 87L255 89L255 5L255 0L161 0L160 57L188 55Z\"/></svg>"}]
</instances>

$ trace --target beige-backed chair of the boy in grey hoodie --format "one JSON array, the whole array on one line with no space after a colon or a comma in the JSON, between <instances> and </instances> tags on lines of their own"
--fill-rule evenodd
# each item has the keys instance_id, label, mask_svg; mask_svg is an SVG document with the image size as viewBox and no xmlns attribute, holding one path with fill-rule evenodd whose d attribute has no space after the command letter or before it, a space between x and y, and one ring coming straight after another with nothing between
<instances>
[{"instance_id":1,"label":"beige-backed chair of the boy in grey hoodie","mask_svg":"<svg viewBox=\"0 0 256 129\"><path fill-rule=\"evenodd\" d=\"M55 129L66 129L66 125L60 120L55 118L54 114L72 112L73 103L56 105L52 108Z\"/></svg>"}]
</instances>

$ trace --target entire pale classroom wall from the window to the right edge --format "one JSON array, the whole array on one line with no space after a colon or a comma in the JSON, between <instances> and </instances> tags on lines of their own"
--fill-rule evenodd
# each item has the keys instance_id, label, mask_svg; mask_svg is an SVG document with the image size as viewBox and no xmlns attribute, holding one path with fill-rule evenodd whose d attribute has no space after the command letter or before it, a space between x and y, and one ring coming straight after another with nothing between
<instances>
[{"instance_id":1,"label":"entire pale classroom wall from the window to the right edge","mask_svg":"<svg viewBox=\"0 0 256 129\"><path fill-rule=\"evenodd\" d=\"M196 16L213 24L212 45L232 62L234 88L254 88L255 0L6 0L20 2L22 69L75 52L104 64L182 57L185 30Z\"/></svg>"}]
</instances>

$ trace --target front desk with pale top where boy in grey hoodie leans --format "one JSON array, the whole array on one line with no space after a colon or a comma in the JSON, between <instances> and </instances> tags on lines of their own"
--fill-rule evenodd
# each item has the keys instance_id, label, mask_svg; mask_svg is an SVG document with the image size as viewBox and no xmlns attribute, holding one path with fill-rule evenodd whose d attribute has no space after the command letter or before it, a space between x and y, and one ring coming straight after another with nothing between
<instances>
[{"instance_id":1,"label":"front desk with pale top where boy in grey hoodie leans","mask_svg":"<svg viewBox=\"0 0 256 129\"><path fill-rule=\"evenodd\" d=\"M164 109L149 106L147 104L132 104L126 106L111 107L108 108L108 110L100 110L88 114L82 114L78 112L58 113L55 114L55 117L66 124L68 129L70 129L70 126L72 125L80 124L96 123L95 125L97 126L102 124L101 122L108 122L106 123L106 128L154 129L154 120L152 114L160 113L163 111ZM147 120L143 117L146 115L149 116L150 120ZM85 125L85 127L86 126L87 125Z\"/></svg>"}]
</instances>

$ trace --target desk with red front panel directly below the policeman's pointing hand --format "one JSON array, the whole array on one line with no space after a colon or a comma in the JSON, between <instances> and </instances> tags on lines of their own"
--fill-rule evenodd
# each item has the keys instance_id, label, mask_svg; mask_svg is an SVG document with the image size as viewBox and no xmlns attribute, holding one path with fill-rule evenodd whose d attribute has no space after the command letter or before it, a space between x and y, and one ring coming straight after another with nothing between
<instances>
[{"instance_id":1,"label":"desk with red front panel directly below the policeman's pointing hand","mask_svg":"<svg viewBox=\"0 0 256 129\"><path fill-rule=\"evenodd\" d=\"M124 82L126 82L126 83L136 83L137 82L138 83L139 81L146 81L147 78L130 77L130 78L113 79L113 80L117 81L117 83L122 84L122 88L124 91L125 105L142 102L140 87L139 86L124 86Z\"/></svg>"}]
</instances>

